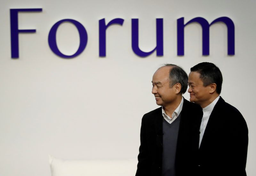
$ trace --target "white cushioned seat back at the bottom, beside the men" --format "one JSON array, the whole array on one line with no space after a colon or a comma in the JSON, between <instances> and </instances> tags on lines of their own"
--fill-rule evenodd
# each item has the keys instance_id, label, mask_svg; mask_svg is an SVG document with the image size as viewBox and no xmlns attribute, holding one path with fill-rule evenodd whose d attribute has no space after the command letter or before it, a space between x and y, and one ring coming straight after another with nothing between
<instances>
[{"instance_id":1,"label":"white cushioned seat back at the bottom, beside the men","mask_svg":"<svg viewBox=\"0 0 256 176\"><path fill-rule=\"evenodd\" d=\"M137 159L62 160L49 155L52 176L134 176Z\"/></svg>"}]
</instances>

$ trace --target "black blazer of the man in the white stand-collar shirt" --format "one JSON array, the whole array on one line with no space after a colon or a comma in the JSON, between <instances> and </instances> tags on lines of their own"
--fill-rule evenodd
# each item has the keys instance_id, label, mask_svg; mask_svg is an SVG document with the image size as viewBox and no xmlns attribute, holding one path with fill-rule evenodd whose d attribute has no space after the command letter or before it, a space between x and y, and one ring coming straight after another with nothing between
<instances>
[{"instance_id":1,"label":"black blazer of the man in the white stand-collar shirt","mask_svg":"<svg viewBox=\"0 0 256 176\"><path fill-rule=\"evenodd\" d=\"M246 176L248 128L241 113L221 97L214 106L199 148L201 176Z\"/></svg>"}]
</instances>

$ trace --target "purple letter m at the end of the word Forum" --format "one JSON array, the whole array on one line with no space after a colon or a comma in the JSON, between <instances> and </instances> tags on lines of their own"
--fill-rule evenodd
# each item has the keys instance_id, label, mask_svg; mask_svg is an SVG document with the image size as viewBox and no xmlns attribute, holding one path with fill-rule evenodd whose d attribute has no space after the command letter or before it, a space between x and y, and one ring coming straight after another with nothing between
<instances>
[{"instance_id":1,"label":"purple letter m at the end of the word Forum","mask_svg":"<svg viewBox=\"0 0 256 176\"><path fill-rule=\"evenodd\" d=\"M192 22L197 22L202 27L202 48L203 55L209 55L209 28L216 22L223 22L228 28L228 55L235 55L235 26L233 21L228 17L220 17L212 21L209 25L208 21L202 17L196 17L188 21L184 25L184 17L177 20L177 55L184 55L184 27Z\"/></svg>"}]
</instances>

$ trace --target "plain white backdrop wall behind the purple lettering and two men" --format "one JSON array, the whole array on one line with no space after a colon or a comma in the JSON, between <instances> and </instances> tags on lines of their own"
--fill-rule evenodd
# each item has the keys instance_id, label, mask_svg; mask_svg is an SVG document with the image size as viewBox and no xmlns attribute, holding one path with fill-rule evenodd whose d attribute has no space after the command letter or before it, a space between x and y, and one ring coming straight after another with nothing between
<instances>
[{"instance_id":1,"label":"plain white backdrop wall behind the purple lettering and two men","mask_svg":"<svg viewBox=\"0 0 256 176\"><path fill-rule=\"evenodd\" d=\"M20 58L11 59L11 8L43 8L19 13ZM244 116L249 129L246 171L256 174L255 12L253 0L1 0L0 5L0 175L50 176L48 154L69 159L137 157L143 114L157 108L151 79L164 63L187 73L199 62L215 63L223 74L221 96ZM235 24L234 56L227 55L227 28L210 28L210 55L202 56L199 24L185 28L185 55L177 56L176 20L227 16ZM48 45L48 34L62 19L84 25L87 46L78 57L62 59ZM123 18L107 30L107 56L99 57L99 20ZM131 19L139 19L140 49L156 46L156 18L164 19L164 56L140 58L132 52ZM57 44L76 52L78 32L60 25ZM189 98L188 92L184 94ZM134 165L136 167L136 165Z\"/></svg>"}]
</instances>

